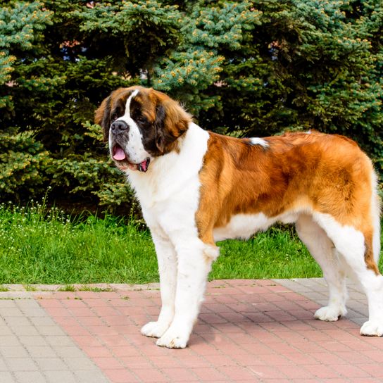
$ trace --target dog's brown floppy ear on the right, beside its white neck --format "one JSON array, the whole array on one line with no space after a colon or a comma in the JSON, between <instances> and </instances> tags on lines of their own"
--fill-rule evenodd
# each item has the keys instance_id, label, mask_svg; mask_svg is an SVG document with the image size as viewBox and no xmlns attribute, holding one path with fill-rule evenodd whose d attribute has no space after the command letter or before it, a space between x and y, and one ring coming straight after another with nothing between
<instances>
[{"instance_id":1,"label":"dog's brown floppy ear on the right, beside its white neck","mask_svg":"<svg viewBox=\"0 0 383 383\"><path fill-rule=\"evenodd\" d=\"M165 154L173 149L177 138L187 131L192 117L177 101L161 92L153 92L156 94L156 146L161 154Z\"/></svg>"}]
</instances>

